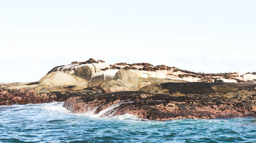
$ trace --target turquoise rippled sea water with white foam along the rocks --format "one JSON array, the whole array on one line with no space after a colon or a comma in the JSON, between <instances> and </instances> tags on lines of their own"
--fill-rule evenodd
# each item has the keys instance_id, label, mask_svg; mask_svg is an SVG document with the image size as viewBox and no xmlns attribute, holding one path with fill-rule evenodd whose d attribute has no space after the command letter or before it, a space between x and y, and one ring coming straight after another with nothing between
<instances>
[{"instance_id":1,"label":"turquoise rippled sea water with white foam along the rocks","mask_svg":"<svg viewBox=\"0 0 256 143\"><path fill-rule=\"evenodd\" d=\"M256 142L256 119L149 121L73 114L63 102L0 106L0 142Z\"/></svg>"}]
</instances>

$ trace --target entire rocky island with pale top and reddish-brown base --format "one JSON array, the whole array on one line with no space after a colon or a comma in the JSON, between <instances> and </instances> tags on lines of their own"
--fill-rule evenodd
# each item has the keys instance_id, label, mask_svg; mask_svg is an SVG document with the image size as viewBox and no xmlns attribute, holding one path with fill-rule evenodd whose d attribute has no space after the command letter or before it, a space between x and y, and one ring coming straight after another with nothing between
<instances>
[{"instance_id":1,"label":"entire rocky island with pale top and reddish-brown base","mask_svg":"<svg viewBox=\"0 0 256 143\"><path fill-rule=\"evenodd\" d=\"M90 58L54 67L39 82L1 83L0 105L65 101L74 113L111 110L143 119L212 119L256 115L256 73L196 73L149 63Z\"/></svg>"}]
</instances>

